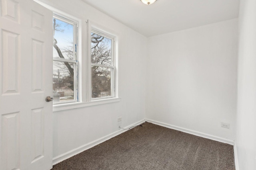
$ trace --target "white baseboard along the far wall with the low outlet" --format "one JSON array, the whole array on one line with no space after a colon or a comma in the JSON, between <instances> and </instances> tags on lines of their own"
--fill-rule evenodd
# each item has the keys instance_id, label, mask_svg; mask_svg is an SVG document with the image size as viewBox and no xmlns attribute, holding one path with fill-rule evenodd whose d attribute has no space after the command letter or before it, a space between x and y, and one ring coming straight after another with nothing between
<instances>
[{"instance_id":1,"label":"white baseboard along the far wall with the low outlet","mask_svg":"<svg viewBox=\"0 0 256 170\"><path fill-rule=\"evenodd\" d=\"M189 134L192 134L192 135L204 137L204 138L207 138L207 139L212 139L214 141L219 141L219 142L222 142L222 143L228 143L230 145L234 145L234 141L229 140L229 139L225 139L225 138L222 138L222 137L209 135L209 134L202 133L202 132L199 132L199 131L194 131L194 130L186 129L186 128L183 128L183 127L170 125L170 124L167 124L167 123L162 123L160 121L154 121L154 120L150 120L150 119L145 119L145 120L147 122L154 123L156 125L160 125L160 126L167 127L167 128L170 128L170 129L174 129L174 130L177 130L177 131L182 131L182 132L189 133Z\"/></svg>"}]
</instances>

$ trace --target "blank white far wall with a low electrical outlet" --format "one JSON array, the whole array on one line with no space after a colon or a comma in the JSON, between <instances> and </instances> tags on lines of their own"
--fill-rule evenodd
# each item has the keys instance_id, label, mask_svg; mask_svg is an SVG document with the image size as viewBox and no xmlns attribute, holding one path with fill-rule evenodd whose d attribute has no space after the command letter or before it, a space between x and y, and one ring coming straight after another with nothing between
<instances>
[{"instance_id":1,"label":"blank white far wall with a low electrical outlet","mask_svg":"<svg viewBox=\"0 0 256 170\"><path fill-rule=\"evenodd\" d=\"M150 37L146 119L234 140L237 46L237 19Z\"/></svg>"}]
</instances>

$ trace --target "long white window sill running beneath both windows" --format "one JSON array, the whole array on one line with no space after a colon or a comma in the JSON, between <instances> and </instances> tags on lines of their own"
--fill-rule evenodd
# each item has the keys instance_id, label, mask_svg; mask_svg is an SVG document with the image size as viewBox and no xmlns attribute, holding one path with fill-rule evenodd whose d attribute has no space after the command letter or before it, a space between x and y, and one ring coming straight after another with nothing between
<instances>
[{"instance_id":1,"label":"long white window sill running beneath both windows","mask_svg":"<svg viewBox=\"0 0 256 170\"><path fill-rule=\"evenodd\" d=\"M94 101L90 101L90 102L58 104L58 105L53 106L53 112L69 110L69 109L76 109L76 108L81 108L81 107L95 106L95 105L99 105L99 104L108 104L108 103L113 103L113 102L119 102L120 100L121 100L121 98L108 98L108 99L94 100Z\"/></svg>"}]
</instances>

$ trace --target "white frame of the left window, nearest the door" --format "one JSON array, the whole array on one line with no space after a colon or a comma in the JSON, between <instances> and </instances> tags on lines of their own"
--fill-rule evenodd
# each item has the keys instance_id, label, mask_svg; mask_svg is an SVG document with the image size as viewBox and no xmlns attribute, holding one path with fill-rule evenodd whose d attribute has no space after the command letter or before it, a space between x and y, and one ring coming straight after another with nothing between
<instances>
[{"instance_id":1,"label":"white frame of the left window, nearest the door","mask_svg":"<svg viewBox=\"0 0 256 170\"><path fill-rule=\"evenodd\" d=\"M74 20L74 19L70 19L68 16L63 16L60 14L56 14L53 13L52 18L56 18L57 20L66 22L68 24L73 25L73 48L74 48L74 59L62 59L62 58L56 58L56 57L52 57L53 62L54 61L59 61L59 62L68 62L68 63L74 63L74 100L69 100L69 101L60 101L60 102L53 102L53 106L56 105L62 105L62 104L68 104L68 103L76 103L79 102L79 91L80 89L78 88L78 74L79 74L79 37L78 37L78 31L79 31L79 22Z\"/></svg>"}]
</instances>

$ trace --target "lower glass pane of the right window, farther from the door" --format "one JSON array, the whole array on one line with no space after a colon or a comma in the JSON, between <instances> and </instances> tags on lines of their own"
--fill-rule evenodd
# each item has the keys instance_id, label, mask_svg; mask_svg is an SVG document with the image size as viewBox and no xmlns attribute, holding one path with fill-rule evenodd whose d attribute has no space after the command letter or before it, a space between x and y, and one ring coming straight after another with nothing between
<instances>
[{"instance_id":1,"label":"lower glass pane of the right window, farther from the door","mask_svg":"<svg viewBox=\"0 0 256 170\"><path fill-rule=\"evenodd\" d=\"M92 98L112 96L112 68L92 66Z\"/></svg>"}]
</instances>

